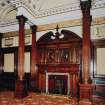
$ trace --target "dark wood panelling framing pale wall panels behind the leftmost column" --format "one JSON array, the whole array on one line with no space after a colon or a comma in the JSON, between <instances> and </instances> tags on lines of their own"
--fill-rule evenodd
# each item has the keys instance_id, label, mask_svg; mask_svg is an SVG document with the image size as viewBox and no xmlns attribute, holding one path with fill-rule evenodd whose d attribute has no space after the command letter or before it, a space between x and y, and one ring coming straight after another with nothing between
<instances>
[{"instance_id":1,"label":"dark wood panelling framing pale wall panels behind the leftmost column","mask_svg":"<svg viewBox=\"0 0 105 105\"><path fill-rule=\"evenodd\" d=\"M25 52L30 52L30 46L25 47ZM15 80L17 80L17 69L18 69L18 47L8 47L8 48L2 48L1 49L1 89L8 89L8 90L14 90L15 88ZM4 72L3 66L4 66L4 54L9 54L9 53L14 53L14 72ZM28 89L30 88L29 86L29 78L30 78L30 73L25 73L24 78L26 79L26 82L28 84Z\"/></svg>"}]
</instances>

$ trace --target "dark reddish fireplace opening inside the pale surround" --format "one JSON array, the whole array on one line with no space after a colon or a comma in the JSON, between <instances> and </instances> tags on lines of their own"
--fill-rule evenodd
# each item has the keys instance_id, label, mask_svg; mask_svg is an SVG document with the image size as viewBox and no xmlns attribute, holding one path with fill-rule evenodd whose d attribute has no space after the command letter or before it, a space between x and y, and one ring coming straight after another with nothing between
<instances>
[{"instance_id":1,"label":"dark reddish fireplace opening inside the pale surround","mask_svg":"<svg viewBox=\"0 0 105 105\"><path fill-rule=\"evenodd\" d=\"M67 76L50 75L49 92L53 94L67 94Z\"/></svg>"}]
</instances>

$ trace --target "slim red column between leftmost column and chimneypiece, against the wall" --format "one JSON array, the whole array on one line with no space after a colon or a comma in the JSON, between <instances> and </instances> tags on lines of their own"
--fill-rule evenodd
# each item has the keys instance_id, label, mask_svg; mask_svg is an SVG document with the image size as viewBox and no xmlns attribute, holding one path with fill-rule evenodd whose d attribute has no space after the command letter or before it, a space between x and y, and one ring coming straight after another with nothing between
<instances>
[{"instance_id":1,"label":"slim red column between leftmost column and chimneypiece, against the wall","mask_svg":"<svg viewBox=\"0 0 105 105\"><path fill-rule=\"evenodd\" d=\"M36 47L36 29L35 25L31 26L32 30L32 45L31 45L31 77L30 77L30 85L32 91L37 91L37 47Z\"/></svg>"}]
</instances>

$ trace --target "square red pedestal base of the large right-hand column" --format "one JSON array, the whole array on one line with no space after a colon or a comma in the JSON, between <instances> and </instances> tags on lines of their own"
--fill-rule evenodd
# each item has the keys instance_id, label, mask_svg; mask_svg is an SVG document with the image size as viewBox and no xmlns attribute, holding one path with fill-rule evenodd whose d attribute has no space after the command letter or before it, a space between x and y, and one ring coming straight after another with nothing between
<instances>
[{"instance_id":1,"label":"square red pedestal base of the large right-hand column","mask_svg":"<svg viewBox=\"0 0 105 105\"><path fill-rule=\"evenodd\" d=\"M80 84L80 101L79 105L92 105L93 85Z\"/></svg>"}]
</instances>

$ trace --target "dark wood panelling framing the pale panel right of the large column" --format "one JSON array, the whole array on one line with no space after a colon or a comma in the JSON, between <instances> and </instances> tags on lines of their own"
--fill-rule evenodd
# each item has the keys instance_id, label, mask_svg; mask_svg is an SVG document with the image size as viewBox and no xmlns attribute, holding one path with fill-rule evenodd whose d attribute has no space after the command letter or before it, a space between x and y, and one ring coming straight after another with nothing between
<instances>
[{"instance_id":1,"label":"dark wood panelling framing the pale panel right of the large column","mask_svg":"<svg viewBox=\"0 0 105 105\"><path fill-rule=\"evenodd\" d=\"M103 101L105 99L105 75L97 74L97 48L105 48L105 39L93 40L93 82L94 87L94 97L95 101ZM105 59L105 58L103 58Z\"/></svg>"}]
</instances>

